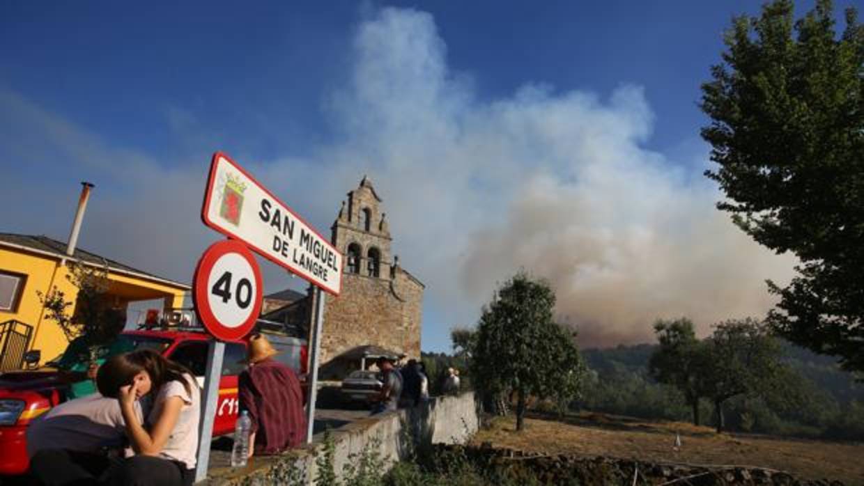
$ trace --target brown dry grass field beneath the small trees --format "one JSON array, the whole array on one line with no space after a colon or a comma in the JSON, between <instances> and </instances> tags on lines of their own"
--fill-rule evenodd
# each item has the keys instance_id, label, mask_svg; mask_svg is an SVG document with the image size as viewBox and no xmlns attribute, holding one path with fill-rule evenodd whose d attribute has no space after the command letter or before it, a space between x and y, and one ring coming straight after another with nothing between
<instances>
[{"instance_id":1,"label":"brown dry grass field beneath the small trees","mask_svg":"<svg viewBox=\"0 0 864 486\"><path fill-rule=\"evenodd\" d=\"M524 431L515 418L493 420L473 445L540 454L638 458L658 463L759 466L785 470L806 479L839 479L864 484L864 444L779 439L769 436L717 434L708 427L681 422L651 422L602 413L581 413L562 421L529 413ZM676 434L681 449L674 451Z\"/></svg>"}]
</instances>

